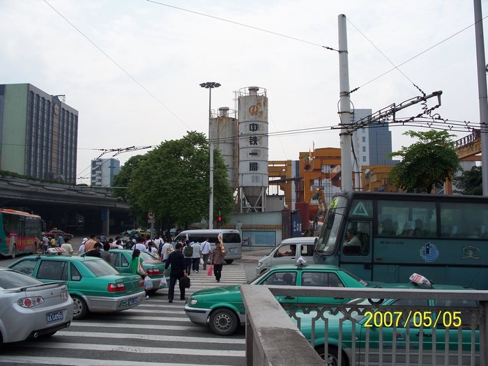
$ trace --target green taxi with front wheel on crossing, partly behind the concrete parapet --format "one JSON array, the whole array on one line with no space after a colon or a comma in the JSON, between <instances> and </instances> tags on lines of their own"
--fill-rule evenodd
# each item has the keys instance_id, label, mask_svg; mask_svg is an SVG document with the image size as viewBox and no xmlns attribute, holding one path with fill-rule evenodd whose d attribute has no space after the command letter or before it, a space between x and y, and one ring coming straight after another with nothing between
<instances>
[{"instance_id":1,"label":"green taxi with front wheel on crossing, partly behind the concrete parapet","mask_svg":"<svg viewBox=\"0 0 488 366\"><path fill-rule=\"evenodd\" d=\"M282 264L271 267L249 284L273 286L365 287L367 282L337 266ZM323 298L277 296L280 303L323 303ZM330 298L345 303L350 298ZM245 323L245 307L239 285L197 291L187 298L185 314L196 324L210 326L216 335L231 335Z\"/></svg>"}]
</instances>

